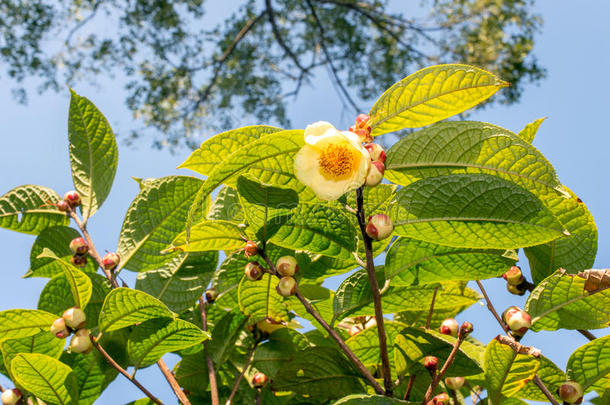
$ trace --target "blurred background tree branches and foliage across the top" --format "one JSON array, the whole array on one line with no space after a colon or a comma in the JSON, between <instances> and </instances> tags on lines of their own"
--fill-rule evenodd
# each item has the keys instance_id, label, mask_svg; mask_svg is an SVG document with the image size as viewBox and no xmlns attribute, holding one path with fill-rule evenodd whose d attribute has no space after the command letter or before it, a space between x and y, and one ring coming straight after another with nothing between
<instances>
[{"instance_id":1,"label":"blurred background tree branches and foliage across the top","mask_svg":"<svg viewBox=\"0 0 610 405\"><path fill-rule=\"evenodd\" d=\"M286 103L324 69L350 112L406 74L447 62L498 74L511 87L495 100L512 103L545 73L532 54L542 22L532 5L244 0L213 19L203 0L0 0L0 75L22 102L30 77L44 91L123 75L142 127L130 138L153 136L157 146L192 145L249 120L288 126Z\"/></svg>"}]
</instances>

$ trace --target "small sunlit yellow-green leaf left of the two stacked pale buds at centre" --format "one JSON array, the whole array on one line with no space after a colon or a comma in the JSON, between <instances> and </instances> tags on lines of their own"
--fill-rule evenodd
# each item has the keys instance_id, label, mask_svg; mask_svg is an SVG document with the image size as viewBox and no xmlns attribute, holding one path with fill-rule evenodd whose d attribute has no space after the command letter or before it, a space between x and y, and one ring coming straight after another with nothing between
<instances>
[{"instance_id":1,"label":"small sunlit yellow-green leaf left of the two stacked pale buds at centre","mask_svg":"<svg viewBox=\"0 0 610 405\"><path fill-rule=\"evenodd\" d=\"M264 319L276 322L287 322L288 309L283 304L284 298L277 293L275 287L279 279L271 274L263 274L258 281L250 281L243 277L239 284L239 309L248 317L249 324Z\"/></svg>"}]
</instances>

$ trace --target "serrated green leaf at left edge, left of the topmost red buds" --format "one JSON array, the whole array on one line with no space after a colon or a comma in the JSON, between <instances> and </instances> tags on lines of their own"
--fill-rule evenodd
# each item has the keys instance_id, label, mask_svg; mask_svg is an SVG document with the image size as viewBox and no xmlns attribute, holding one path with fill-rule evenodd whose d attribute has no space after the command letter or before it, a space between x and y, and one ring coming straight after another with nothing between
<instances>
[{"instance_id":1,"label":"serrated green leaf at left edge, left of the topmost red buds","mask_svg":"<svg viewBox=\"0 0 610 405\"><path fill-rule=\"evenodd\" d=\"M60 198L50 188L34 185L15 187L0 197L0 227L38 235L44 229L70 223L55 207Z\"/></svg>"}]
</instances>

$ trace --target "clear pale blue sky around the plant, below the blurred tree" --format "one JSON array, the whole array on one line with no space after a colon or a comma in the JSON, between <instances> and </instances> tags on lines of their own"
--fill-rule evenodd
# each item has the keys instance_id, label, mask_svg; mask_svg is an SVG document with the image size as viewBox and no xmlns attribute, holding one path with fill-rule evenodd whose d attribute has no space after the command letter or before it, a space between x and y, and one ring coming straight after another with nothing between
<instances>
[{"instance_id":1,"label":"clear pale blue sky around the plant, below the blurred tree","mask_svg":"<svg viewBox=\"0 0 610 405\"><path fill-rule=\"evenodd\" d=\"M528 86L520 104L488 108L472 118L519 131L528 122L548 117L534 145L554 165L562 183L577 193L592 212L599 230L595 268L609 267L610 46L607 41L610 38L610 2L555 0L538 3L536 10L544 17L545 24L537 37L535 53L548 69L548 78L538 86ZM412 72L405 72L405 76L409 73ZM346 126L347 122L338 119L340 102L333 92L329 92L325 72L321 72L319 79L314 88L305 89L298 102L290 106L293 125L303 128L310 122L326 120L338 127ZM99 88L79 86L75 90L94 101L115 132L121 134L127 133L131 117L123 103L122 88L116 87L116 83L105 81ZM4 80L0 88L0 173L3 173L0 194L22 184L45 185L63 194L73 187L67 145L68 91L42 96L32 93L29 105L21 106L11 97L11 85ZM191 174L175 169L189 151L181 150L171 155L148 146L144 140L135 148L119 147L119 168L113 191L89 223L98 250L116 249L124 213L138 191L132 176ZM29 267L34 237L0 229L0 241L3 258L0 271L4 276L0 310L35 308L38 294L47 280L20 278ZM130 284L133 285L133 281ZM484 284L499 310L509 305L523 305L523 298L505 291L502 280ZM473 322L475 336L483 342L500 333L483 306L475 304L460 319ZM602 336L607 330L594 333ZM586 340L577 332L563 331L552 335L529 333L524 342L542 348L547 357L565 368L569 354ZM173 364L175 357L168 356L168 362ZM173 403L171 391L156 367L138 371L138 376L161 399ZM0 383L6 385L7 381L0 378ZM97 403L127 403L142 396L125 379L118 377Z\"/></svg>"}]
</instances>

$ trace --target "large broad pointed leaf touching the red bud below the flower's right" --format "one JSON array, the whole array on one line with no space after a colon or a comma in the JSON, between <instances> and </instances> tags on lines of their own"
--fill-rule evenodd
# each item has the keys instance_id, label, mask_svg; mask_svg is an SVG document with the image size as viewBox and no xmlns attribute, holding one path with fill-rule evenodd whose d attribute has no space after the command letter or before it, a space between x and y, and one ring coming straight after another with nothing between
<instances>
[{"instance_id":1,"label":"large broad pointed leaf touching the red bud below the flower's right","mask_svg":"<svg viewBox=\"0 0 610 405\"><path fill-rule=\"evenodd\" d=\"M446 246L514 249L568 234L529 191L487 174L454 174L397 193L394 232Z\"/></svg>"}]
</instances>

